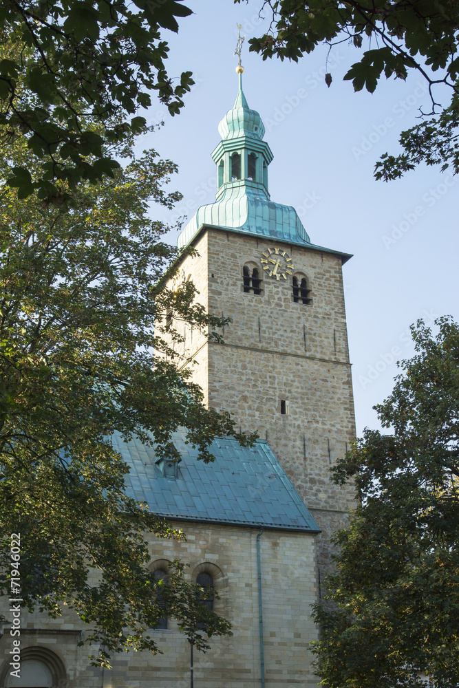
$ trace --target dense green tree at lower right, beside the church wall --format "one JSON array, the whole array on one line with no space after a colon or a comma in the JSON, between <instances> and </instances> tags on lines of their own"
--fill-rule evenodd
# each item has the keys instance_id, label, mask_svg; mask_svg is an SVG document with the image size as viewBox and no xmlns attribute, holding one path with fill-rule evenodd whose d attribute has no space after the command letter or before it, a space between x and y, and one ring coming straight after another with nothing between
<instances>
[{"instance_id":1,"label":"dense green tree at lower right, beside the church wall","mask_svg":"<svg viewBox=\"0 0 459 688\"><path fill-rule=\"evenodd\" d=\"M459 326L436 325L412 327L416 356L376 407L392 434L367 429L333 469L359 504L314 610L328 688L459 684Z\"/></svg>"}]
</instances>

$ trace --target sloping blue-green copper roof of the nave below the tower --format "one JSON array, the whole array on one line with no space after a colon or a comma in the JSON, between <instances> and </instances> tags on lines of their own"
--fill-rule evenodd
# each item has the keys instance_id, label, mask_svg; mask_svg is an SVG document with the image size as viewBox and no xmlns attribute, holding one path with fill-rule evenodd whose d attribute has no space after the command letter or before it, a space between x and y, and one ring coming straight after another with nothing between
<instances>
[{"instance_id":1,"label":"sloping blue-green copper roof of the nave below the tower","mask_svg":"<svg viewBox=\"0 0 459 688\"><path fill-rule=\"evenodd\" d=\"M241 447L233 438L220 438L211 445L215 462L204 464L197 460L198 451L185 443L186 431L178 431L173 444L182 460L177 477L166 477L153 447L135 438L125 442L118 434L113 439L130 468L127 493L147 502L153 513L184 521L319 533L267 442Z\"/></svg>"}]
</instances>

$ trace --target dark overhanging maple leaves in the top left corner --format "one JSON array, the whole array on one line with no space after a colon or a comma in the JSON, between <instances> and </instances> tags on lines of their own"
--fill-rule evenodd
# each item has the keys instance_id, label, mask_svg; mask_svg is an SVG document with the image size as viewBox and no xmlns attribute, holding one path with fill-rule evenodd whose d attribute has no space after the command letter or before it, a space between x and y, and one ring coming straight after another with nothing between
<instances>
[{"instance_id":1,"label":"dark overhanging maple leaves in the top left corner","mask_svg":"<svg viewBox=\"0 0 459 688\"><path fill-rule=\"evenodd\" d=\"M104 144L145 125L140 108L156 92L170 113L183 105L191 72L167 75L162 29L191 10L181 0L10 0L0 8L0 140L21 134L43 160L10 172L19 197L61 203L62 189L113 175L118 162ZM114 122L107 127L107 121ZM90 126L88 125L88 122ZM106 129L97 133L94 128ZM8 172L8 170L7 170Z\"/></svg>"}]
</instances>

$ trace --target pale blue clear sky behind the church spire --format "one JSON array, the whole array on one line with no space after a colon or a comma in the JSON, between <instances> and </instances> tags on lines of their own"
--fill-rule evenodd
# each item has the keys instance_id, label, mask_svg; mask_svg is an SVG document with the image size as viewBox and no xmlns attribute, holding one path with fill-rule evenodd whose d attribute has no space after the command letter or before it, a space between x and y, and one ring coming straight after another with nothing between
<instances>
[{"instance_id":1,"label":"pale blue clear sky behind the church spire","mask_svg":"<svg viewBox=\"0 0 459 688\"><path fill-rule=\"evenodd\" d=\"M398 134L418 121L417 108L427 108L425 83L413 75L406 83L382 81L374 94L354 94L342 81L357 57L347 44L332 50L328 66L325 47L296 65L263 62L247 46L263 31L261 0L186 4L195 14L180 21L178 36L165 32L164 38L169 74L190 69L196 85L180 116L171 118L159 103L151 107L149 122L164 119L165 126L145 142L178 163L171 188L184 199L176 211L152 213L169 221L192 217L214 199L211 151L237 93L233 52L241 23L244 93L261 114L274 153L271 198L295 206L313 244L354 254L343 274L357 432L378 427L372 406L391 391L396 359L412 355L409 325L442 314L459 318L459 178L426 167L389 184L372 175L381 153L398 151ZM333 77L330 89L325 71Z\"/></svg>"}]
</instances>

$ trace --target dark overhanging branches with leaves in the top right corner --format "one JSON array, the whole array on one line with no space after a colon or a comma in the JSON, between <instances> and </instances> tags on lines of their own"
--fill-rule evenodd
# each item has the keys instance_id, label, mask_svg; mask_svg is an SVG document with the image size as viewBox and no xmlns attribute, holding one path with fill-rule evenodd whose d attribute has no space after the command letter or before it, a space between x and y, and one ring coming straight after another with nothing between
<instances>
[{"instance_id":1,"label":"dark overhanging branches with leaves in the top right corner","mask_svg":"<svg viewBox=\"0 0 459 688\"><path fill-rule=\"evenodd\" d=\"M240 2L241 0L234 0ZM381 76L405 79L410 70L429 84L431 116L401 134L403 153L385 155L376 163L376 179L394 179L420 162L441 164L459 171L459 4L451 0L266 0L262 10L272 16L270 30L250 39L250 50L263 59L277 56L298 61L325 43L332 47L349 42L361 52L345 80L355 91L373 93ZM367 47L367 50L365 50ZM332 75L325 74L328 86ZM451 93L444 109L436 102L438 91Z\"/></svg>"}]
</instances>

